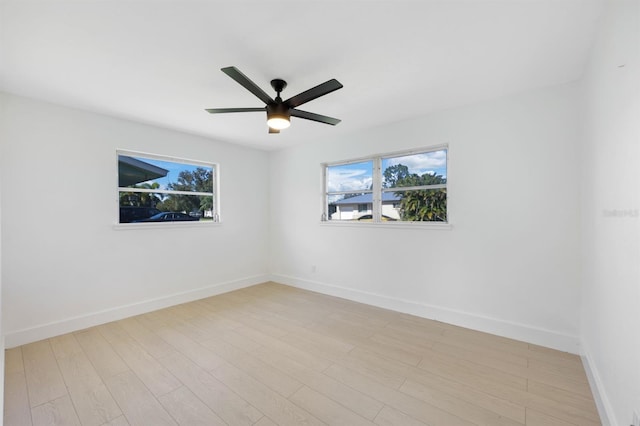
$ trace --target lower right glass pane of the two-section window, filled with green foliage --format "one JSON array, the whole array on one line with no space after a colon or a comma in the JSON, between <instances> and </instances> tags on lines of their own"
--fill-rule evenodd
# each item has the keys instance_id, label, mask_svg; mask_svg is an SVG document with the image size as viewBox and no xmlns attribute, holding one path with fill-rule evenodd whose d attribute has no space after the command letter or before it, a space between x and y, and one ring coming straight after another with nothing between
<instances>
[{"instance_id":1,"label":"lower right glass pane of the two-section window, filled with green foliage","mask_svg":"<svg viewBox=\"0 0 640 426\"><path fill-rule=\"evenodd\" d=\"M396 201L388 203L384 201L385 198ZM439 188L384 192L382 214L390 217L395 214L398 220L405 222L446 222L447 190Z\"/></svg>"}]
</instances>

